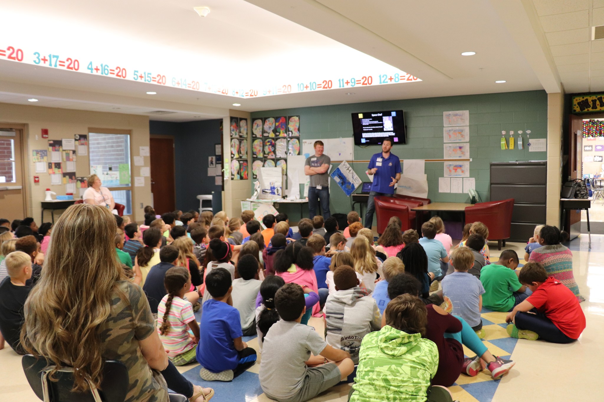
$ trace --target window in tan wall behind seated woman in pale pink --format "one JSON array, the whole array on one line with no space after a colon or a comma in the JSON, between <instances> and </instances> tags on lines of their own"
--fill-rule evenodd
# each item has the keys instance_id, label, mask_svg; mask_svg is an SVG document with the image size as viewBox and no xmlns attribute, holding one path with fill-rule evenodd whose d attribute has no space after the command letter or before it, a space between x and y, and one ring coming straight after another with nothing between
<instances>
[{"instance_id":1,"label":"window in tan wall behind seated woman in pale pink","mask_svg":"<svg viewBox=\"0 0 604 402\"><path fill-rule=\"evenodd\" d=\"M89 133L90 173L111 190L115 202L124 204L124 215L132 214L130 136Z\"/></svg>"}]
</instances>

